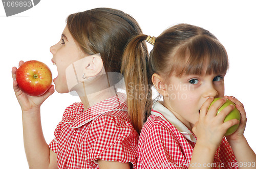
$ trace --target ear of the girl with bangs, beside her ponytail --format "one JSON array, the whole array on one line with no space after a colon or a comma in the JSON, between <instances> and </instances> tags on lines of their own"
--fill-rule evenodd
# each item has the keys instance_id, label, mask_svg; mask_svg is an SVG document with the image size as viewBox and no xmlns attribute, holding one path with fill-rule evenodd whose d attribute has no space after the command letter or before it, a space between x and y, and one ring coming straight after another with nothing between
<instances>
[{"instance_id":1,"label":"ear of the girl with bangs, beside her ponytail","mask_svg":"<svg viewBox=\"0 0 256 169\"><path fill-rule=\"evenodd\" d=\"M163 78L159 74L154 73L152 75L151 80L153 82L154 87L158 91L158 93L160 93L162 96L167 96L168 95L167 85L164 83Z\"/></svg>"}]
</instances>

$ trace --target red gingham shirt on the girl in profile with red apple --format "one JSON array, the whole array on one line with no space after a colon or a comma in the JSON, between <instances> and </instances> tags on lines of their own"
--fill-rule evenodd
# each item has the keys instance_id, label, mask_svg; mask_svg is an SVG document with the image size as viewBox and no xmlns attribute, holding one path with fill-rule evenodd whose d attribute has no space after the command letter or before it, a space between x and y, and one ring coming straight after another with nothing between
<instances>
[{"instance_id":1,"label":"red gingham shirt on the girl in profile with red apple","mask_svg":"<svg viewBox=\"0 0 256 169\"><path fill-rule=\"evenodd\" d=\"M82 102L70 105L54 135L59 168L99 168L97 159L136 164L138 133L116 96L85 111Z\"/></svg>"}]
</instances>

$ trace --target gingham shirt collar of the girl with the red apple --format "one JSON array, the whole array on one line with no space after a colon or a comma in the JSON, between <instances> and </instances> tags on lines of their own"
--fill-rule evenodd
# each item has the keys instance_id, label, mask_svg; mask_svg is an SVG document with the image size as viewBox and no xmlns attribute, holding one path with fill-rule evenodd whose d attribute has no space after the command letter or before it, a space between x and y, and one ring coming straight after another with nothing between
<instances>
[{"instance_id":1,"label":"gingham shirt collar of the girl with the red apple","mask_svg":"<svg viewBox=\"0 0 256 169\"><path fill-rule=\"evenodd\" d=\"M127 111L126 102L120 102L120 97L122 96L119 95L118 97L110 97L84 111L83 104L80 102L76 104L75 107L71 109L68 114L66 114L66 116L63 116L62 122L70 123L71 128L78 128L106 112L113 110Z\"/></svg>"}]
</instances>

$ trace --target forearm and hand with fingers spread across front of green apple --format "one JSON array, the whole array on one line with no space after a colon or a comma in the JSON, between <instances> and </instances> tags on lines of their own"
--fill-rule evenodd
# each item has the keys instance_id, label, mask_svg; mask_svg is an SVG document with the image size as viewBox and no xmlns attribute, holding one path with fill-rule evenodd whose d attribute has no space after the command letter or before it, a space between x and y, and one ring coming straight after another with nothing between
<instances>
[{"instance_id":1,"label":"forearm and hand with fingers spread across front of green apple","mask_svg":"<svg viewBox=\"0 0 256 169\"><path fill-rule=\"evenodd\" d=\"M214 162L216 150L220 146L224 134L229 127L238 123L236 119L223 123L225 117L234 108L233 105L227 106L216 116L217 110L225 103L225 99L216 101L208 109L213 99L208 98L204 102L200 110L199 121L193 128L193 132L197 136L197 143L191 157L189 168L202 168L204 165L206 166L204 168L212 168L209 164Z\"/></svg>"}]
</instances>

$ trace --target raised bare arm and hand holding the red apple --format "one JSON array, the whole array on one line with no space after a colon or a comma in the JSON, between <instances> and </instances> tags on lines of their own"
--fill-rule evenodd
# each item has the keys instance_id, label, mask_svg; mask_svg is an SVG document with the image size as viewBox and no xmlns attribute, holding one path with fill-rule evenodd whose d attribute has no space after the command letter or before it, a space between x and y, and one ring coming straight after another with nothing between
<instances>
[{"instance_id":1,"label":"raised bare arm and hand holding the red apple","mask_svg":"<svg viewBox=\"0 0 256 169\"><path fill-rule=\"evenodd\" d=\"M19 66L24 62L20 61ZM30 168L57 168L57 155L51 151L42 133L40 105L54 92L54 87L39 97L28 96L19 88L16 79L17 68L12 68L13 89L22 108L24 147Z\"/></svg>"}]
</instances>

